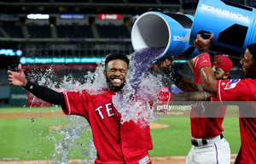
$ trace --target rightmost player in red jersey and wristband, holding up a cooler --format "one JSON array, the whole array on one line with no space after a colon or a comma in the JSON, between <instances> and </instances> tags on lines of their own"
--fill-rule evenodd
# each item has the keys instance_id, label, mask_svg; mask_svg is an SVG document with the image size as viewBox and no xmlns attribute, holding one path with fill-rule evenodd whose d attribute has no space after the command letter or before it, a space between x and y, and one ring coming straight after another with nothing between
<instances>
[{"instance_id":1,"label":"rightmost player in red jersey and wristband, holding up a cooler","mask_svg":"<svg viewBox=\"0 0 256 164\"><path fill-rule=\"evenodd\" d=\"M216 80L214 78L209 53L213 34L209 39L198 35L195 48L200 52L197 71L200 72L203 89L212 93L220 101L239 101L241 148L236 157L236 164L256 163L256 43L247 46L241 59L246 79Z\"/></svg>"}]
</instances>

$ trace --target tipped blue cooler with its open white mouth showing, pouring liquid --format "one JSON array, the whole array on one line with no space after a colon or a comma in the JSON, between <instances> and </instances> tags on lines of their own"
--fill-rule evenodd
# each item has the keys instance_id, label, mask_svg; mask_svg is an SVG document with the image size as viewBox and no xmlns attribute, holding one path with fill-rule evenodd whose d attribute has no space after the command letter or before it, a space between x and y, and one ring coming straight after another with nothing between
<instances>
[{"instance_id":1,"label":"tipped blue cooler with its open white mouth showing, pouring liquid","mask_svg":"<svg viewBox=\"0 0 256 164\"><path fill-rule=\"evenodd\" d=\"M189 46L190 29L194 17L149 11L142 14L131 29L131 44L135 51L142 48L164 48L156 59L179 55L191 59L198 51Z\"/></svg>"}]
</instances>

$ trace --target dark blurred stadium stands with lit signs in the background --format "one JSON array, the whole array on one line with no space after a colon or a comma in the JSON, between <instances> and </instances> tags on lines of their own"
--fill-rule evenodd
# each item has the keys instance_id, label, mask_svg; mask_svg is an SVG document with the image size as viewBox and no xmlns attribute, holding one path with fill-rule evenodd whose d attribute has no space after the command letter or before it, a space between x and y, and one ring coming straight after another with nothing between
<instances>
[{"instance_id":1,"label":"dark blurred stadium stands with lit signs in the background","mask_svg":"<svg viewBox=\"0 0 256 164\"><path fill-rule=\"evenodd\" d=\"M250 7L256 0L228 0ZM27 76L38 80L53 68L50 78L61 82L65 75L84 82L87 71L109 53L131 54L131 28L149 8L195 14L198 0L0 0L0 106L11 105L9 69L21 63ZM232 78L240 78L239 59L232 59ZM183 60L177 71L193 79ZM154 67L154 66L153 66ZM166 85L172 85L168 80Z\"/></svg>"}]
</instances>

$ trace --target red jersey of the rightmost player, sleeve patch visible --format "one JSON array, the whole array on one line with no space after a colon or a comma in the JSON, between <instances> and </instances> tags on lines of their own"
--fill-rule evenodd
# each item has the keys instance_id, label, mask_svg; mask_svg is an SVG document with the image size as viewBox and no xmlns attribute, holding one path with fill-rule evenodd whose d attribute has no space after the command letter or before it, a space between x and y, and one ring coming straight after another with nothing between
<instances>
[{"instance_id":1,"label":"red jersey of the rightmost player, sleeve patch visible","mask_svg":"<svg viewBox=\"0 0 256 164\"><path fill-rule=\"evenodd\" d=\"M220 101L239 101L241 148L236 164L256 163L256 80L220 80Z\"/></svg>"}]
</instances>

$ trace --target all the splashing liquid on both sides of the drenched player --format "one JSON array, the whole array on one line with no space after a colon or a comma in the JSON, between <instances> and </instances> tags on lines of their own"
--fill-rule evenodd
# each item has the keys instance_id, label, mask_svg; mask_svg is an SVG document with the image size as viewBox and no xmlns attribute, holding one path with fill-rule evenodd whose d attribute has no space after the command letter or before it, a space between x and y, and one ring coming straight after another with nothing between
<instances>
[{"instance_id":1,"label":"all the splashing liquid on both sides of the drenched player","mask_svg":"<svg viewBox=\"0 0 256 164\"><path fill-rule=\"evenodd\" d=\"M122 116L121 123L132 120L146 126L155 119L153 109L158 102L157 94L160 92L161 77L154 76L147 70L163 51L164 48L144 48L130 54L130 66L127 71L125 87L113 96L113 105ZM58 87L64 93L67 91L82 93L81 91L84 89L88 90L90 94L102 93L102 88L108 87L105 76L102 76L104 69L104 65L100 64L95 72L87 72L83 84L75 81L73 76L64 76ZM52 70L46 71L46 76L41 75L38 83L56 90L56 82L50 80L52 79L50 74L53 74ZM90 125L86 123L84 117L66 116L64 119L58 120L57 125L67 126L50 130L49 135L44 137L55 144L55 150L51 153L54 163L70 161L75 154L78 154L73 150L80 150L81 156L84 156L84 160L80 163L95 161L96 148L91 139Z\"/></svg>"}]
</instances>

